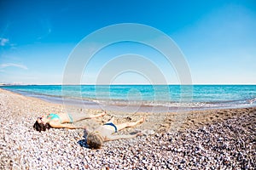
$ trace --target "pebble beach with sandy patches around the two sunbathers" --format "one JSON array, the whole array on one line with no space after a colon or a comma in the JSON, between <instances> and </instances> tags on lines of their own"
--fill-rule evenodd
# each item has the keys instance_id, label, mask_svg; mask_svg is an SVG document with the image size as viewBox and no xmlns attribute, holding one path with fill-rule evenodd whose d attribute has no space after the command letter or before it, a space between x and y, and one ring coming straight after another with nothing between
<instances>
[{"instance_id":1,"label":"pebble beach with sandy patches around the two sunbathers","mask_svg":"<svg viewBox=\"0 0 256 170\"><path fill-rule=\"evenodd\" d=\"M107 142L100 150L87 147L84 129L50 128L39 133L32 128L38 116L66 110L0 89L0 169L256 169L253 107L189 111L182 122L175 118L177 113L160 118L155 113L113 111L93 123L77 122L93 128L111 116L118 122L146 116L145 123L120 132L141 131L143 136ZM68 110L101 112L74 106Z\"/></svg>"}]
</instances>

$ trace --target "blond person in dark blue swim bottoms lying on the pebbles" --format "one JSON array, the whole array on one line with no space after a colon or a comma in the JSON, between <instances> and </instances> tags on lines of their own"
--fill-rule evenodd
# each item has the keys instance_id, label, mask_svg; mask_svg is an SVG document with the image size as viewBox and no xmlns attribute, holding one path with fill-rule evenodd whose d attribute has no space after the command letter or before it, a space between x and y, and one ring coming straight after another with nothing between
<instances>
[{"instance_id":1,"label":"blond person in dark blue swim bottoms lying on the pebbles","mask_svg":"<svg viewBox=\"0 0 256 170\"><path fill-rule=\"evenodd\" d=\"M131 139L137 136L141 136L143 133L135 133L130 135L115 135L119 130L125 127L134 127L138 123L145 121L145 117L141 118L137 122L125 122L119 125L113 124L114 118L111 118L107 123L103 124L101 127L96 128L93 132L89 132L87 135L87 144L91 149L100 149L103 142L118 140L118 139Z\"/></svg>"}]
</instances>

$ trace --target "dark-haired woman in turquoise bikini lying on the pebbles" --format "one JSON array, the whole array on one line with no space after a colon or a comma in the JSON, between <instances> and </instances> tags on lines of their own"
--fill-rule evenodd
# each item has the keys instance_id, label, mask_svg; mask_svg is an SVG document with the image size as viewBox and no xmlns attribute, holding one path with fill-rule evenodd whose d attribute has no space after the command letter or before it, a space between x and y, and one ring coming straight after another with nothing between
<instances>
[{"instance_id":1,"label":"dark-haired woman in turquoise bikini lying on the pebbles","mask_svg":"<svg viewBox=\"0 0 256 170\"><path fill-rule=\"evenodd\" d=\"M73 122L79 122L84 119L93 119L97 117L104 116L106 112L104 111L101 114L95 115L95 116L88 116L88 115L82 115L82 114L67 114L67 113L50 113L48 115L39 116L38 120L34 123L33 127L37 131L45 131L46 129L49 129L50 127L54 128L84 128L84 127L74 127L70 124L63 124L66 122L73 123Z\"/></svg>"}]
</instances>

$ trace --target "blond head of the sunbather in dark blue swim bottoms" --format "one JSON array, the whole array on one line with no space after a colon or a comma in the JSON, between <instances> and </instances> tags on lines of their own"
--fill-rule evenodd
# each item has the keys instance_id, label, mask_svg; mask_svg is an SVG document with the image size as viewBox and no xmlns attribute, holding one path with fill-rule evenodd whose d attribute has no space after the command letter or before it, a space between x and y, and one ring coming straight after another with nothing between
<instances>
[{"instance_id":1,"label":"blond head of the sunbather in dark blue swim bottoms","mask_svg":"<svg viewBox=\"0 0 256 170\"><path fill-rule=\"evenodd\" d=\"M91 149L100 149L104 140L100 133L92 132L87 135L87 145Z\"/></svg>"}]
</instances>

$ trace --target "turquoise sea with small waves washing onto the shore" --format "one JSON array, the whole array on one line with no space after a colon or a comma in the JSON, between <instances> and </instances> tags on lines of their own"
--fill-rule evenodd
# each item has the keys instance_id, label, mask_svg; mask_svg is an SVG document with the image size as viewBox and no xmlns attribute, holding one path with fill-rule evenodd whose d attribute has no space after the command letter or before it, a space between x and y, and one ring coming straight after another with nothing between
<instances>
[{"instance_id":1,"label":"turquoise sea with small waves washing onto the shore","mask_svg":"<svg viewBox=\"0 0 256 170\"><path fill-rule=\"evenodd\" d=\"M256 85L12 85L0 88L52 103L113 111L198 111L256 106Z\"/></svg>"}]
</instances>

